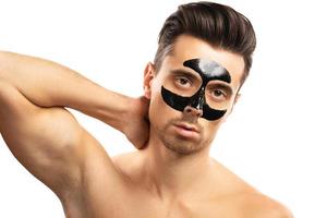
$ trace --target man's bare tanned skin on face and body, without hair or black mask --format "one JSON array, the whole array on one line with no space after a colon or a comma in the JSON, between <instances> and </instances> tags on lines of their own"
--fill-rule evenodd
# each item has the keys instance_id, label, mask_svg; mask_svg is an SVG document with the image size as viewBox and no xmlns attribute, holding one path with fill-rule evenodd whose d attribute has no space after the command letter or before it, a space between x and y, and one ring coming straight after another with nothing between
<instances>
[{"instance_id":1,"label":"man's bare tanned skin on face and body, without hair or black mask","mask_svg":"<svg viewBox=\"0 0 327 218\"><path fill-rule=\"evenodd\" d=\"M57 194L70 218L291 217L281 204L209 157L216 132L239 98L242 57L186 35L178 38L173 51L159 72L152 63L146 65L144 97L137 99L101 88L53 62L1 53L0 104L4 107L0 109L0 131L4 142L23 166ZM219 120L202 119L201 111L193 108L173 110L161 98L164 84L191 87L170 72L183 69L183 61L193 58L215 60L231 75L232 93L225 100L228 111ZM13 64L16 68L9 68ZM61 89L52 92L49 84L35 88L36 73L20 81L20 72L41 68L50 77L44 83L64 77ZM12 72L4 73L8 71ZM78 93L72 86L81 86ZM108 105L101 105L105 101ZM63 107L106 122L142 149L109 157Z\"/></svg>"}]
</instances>

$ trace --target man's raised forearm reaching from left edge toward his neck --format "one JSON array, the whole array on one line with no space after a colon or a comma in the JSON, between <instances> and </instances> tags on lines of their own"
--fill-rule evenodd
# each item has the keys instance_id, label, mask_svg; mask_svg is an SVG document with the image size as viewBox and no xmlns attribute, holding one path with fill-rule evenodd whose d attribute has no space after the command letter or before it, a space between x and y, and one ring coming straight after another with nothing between
<instances>
[{"instance_id":1,"label":"man's raised forearm reaching from left edge toward his neck","mask_svg":"<svg viewBox=\"0 0 327 218\"><path fill-rule=\"evenodd\" d=\"M40 107L69 107L120 130L131 99L58 63L0 51L0 80Z\"/></svg>"}]
</instances>

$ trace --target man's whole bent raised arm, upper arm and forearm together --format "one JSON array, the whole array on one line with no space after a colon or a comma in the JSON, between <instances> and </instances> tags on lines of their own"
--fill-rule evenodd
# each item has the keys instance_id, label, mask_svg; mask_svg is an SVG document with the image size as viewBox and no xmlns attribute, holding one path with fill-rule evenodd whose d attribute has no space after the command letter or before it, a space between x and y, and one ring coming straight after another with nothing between
<instances>
[{"instance_id":1,"label":"man's whole bent raised arm, upper arm and forearm together","mask_svg":"<svg viewBox=\"0 0 327 218\"><path fill-rule=\"evenodd\" d=\"M55 62L0 52L1 135L22 165L58 195L78 183L82 170L87 173L87 161L107 162L116 173L99 143L63 107L124 132L131 121L126 117L133 118L126 109L141 105L141 99L107 90ZM135 123L142 123L136 117Z\"/></svg>"}]
</instances>

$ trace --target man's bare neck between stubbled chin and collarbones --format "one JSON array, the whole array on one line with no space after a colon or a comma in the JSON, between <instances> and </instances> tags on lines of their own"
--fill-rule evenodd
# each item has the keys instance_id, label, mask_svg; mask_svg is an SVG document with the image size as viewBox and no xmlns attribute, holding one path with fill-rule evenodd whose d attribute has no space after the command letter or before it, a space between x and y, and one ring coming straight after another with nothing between
<instances>
[{"instance_id":1,"label":"man's bare neck between stubbled chin and collarbones","mask_svg":"<svg viewBox=\"0 0 327 218\"><path fill-rule=\"evenodd\" d=\"M148 146L141 154L144 181L160 198L198 194L213 177L214 160L209 157L208 147L180 155L150 135Z\"/></svg>"}]
</instances>

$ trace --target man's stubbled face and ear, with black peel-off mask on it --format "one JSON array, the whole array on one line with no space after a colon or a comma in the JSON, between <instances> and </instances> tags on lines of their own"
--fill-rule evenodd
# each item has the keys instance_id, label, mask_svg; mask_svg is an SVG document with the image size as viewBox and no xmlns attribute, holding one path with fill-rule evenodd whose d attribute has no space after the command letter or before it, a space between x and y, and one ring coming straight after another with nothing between
<instances>
[{"instance_id":1,"label":"man's stubbled face and ear, with black peel-off mask on it","mask_svg":"<svg viewBox=\"0 0 327 218\"><path fill-rule=\"evenodd\" d=\"M160 71L145 73L152 134L181 155L208 147L232 110L243 70L241 56L180 36Z\"/></svg>"}]
</instances>

